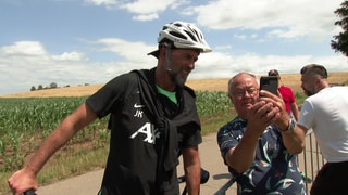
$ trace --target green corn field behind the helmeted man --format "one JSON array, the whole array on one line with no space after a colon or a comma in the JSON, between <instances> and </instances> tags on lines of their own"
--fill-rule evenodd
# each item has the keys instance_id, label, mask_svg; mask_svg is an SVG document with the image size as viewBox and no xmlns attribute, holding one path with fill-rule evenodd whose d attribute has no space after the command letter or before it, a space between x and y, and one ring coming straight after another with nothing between
<instances>
[{"instance_id":1,"label":"green corn field behind the helmeted man","mask_svg":"<svg viewBox=\"0 0 348 195\"><path fill-rule=\"evenodd\" d=\"M231 115L231 103L225 92L199 91L196 94L202 125ZM85 100L86 96L0 99L0 172L20 169L25 157ZM108 119L109 117L97 119L79 131L59 155L73 156L108 145Z\"/></svg>"}]
</instances>

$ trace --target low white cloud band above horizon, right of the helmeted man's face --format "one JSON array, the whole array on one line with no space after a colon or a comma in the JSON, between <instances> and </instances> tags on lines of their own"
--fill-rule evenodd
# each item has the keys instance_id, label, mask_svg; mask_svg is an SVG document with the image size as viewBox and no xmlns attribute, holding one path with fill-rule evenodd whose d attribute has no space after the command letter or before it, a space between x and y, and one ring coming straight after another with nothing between
<instances>
[{"instance_id":1,"label":"low white cloud band above horizon, right of the helmeted man's face","mask_svg":"<svg viewBox=\"0 0 348 195\"><path fill-rule=\"evenodd\" d=\"M254 75L265 75L270 69L279 69L282 74L296 74L307 64L323 64L328 72L339 72L347 66L347 58L343 55L327 55L315 57L312 55L259 55L246 53L233 55L222 52L202 53L191 73L190 79L229 78L239 72Z\"/></svg>"}]
</instances>

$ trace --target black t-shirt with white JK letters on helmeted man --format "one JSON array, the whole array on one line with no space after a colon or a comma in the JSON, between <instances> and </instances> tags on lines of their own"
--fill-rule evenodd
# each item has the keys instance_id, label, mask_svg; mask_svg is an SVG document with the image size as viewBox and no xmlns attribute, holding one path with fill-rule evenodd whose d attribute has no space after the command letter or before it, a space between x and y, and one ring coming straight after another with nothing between
<instances>
[{"instance_id":1,"label":"black t-shirt with white JK letters on helmeted man","mask_svg":"<svg viewBox=\"0 0 348 195\"><path fill-rule=\"evenodd\" d=\"M154 69L151 69L154 73ZM152 74L154 79L154 74ZM154 88L154 84L153 84ZM161 99L165 99L161 96ZM174 113L191 114L188 120L177 127L179 147L201 143L200 123L196 110L195 95L187 90L177 90L178 107ZM167 114L172 109L161 101ZM124 74L109 81L86 100L88 106L102 118L109 114L111 129L110 151L102 181L102 190L109 194L157 194L156 177L158 154L157 140L161 133L149 116L147 105L141 101L138 76ZM173 105L171 105L173 106ZM173 117L167 115L167 117ZM192 121L198 121L192 122ZM158 144L161 142L158 142Z\"/></svg>"}]
</instances>

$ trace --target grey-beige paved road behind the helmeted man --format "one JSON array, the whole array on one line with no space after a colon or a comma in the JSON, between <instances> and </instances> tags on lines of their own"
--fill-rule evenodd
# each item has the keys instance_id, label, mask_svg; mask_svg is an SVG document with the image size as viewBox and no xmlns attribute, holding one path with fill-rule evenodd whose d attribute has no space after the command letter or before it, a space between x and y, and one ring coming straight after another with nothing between
<instances>
[{"instance_id":1,"label":"grey-beige paved road behind the helmeted man","mask_svg":"<svg viewBox=\"0 0 348 195\"><path fill-rule=\"evenodd\" d=\"M229 179L227 167L224 166L220 156L215 133L203 136L203 143L200 145L200 158L202 168L210 172L210 179L201 185L202 195L214 194ZM182 162L181 162L182 165ZM178 176L183 174L183 167L178 167ZM96 195L101 183L103 170L98 170L82 174L72 179L66 179L47 186L40 186L38 195ZM184 184L181 184L181 190ZM236 194L236 186L232 185L226 191L228 195Z\"/></svg>"}]
</instances>

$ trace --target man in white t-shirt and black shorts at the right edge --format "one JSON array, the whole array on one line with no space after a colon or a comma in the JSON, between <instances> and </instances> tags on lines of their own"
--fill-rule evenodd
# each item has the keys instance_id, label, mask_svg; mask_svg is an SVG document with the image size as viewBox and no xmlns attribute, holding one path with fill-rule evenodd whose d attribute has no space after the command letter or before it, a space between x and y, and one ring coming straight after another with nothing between
<instances>
[{"instance_id":1,"label":"man in white t-shirt and black shorts at the right edge","mask_svg":"<svg viewBox=\"0 0 348 195\"><path fill-rule=\"evenodd\" d=\"M312 129L326 162L318 172L312 195L347 194L348 176L348 87L331 87L324 66L301 68L301 88L308 98L298 126Z\"/></svg>"}]
</instances>

